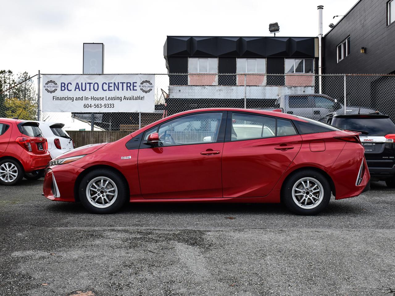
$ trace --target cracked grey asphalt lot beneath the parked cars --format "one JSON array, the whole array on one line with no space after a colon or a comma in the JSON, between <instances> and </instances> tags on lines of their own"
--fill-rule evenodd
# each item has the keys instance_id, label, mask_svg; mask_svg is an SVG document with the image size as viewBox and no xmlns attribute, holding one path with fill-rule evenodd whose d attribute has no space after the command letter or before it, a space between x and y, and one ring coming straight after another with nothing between
<instances>
[{"instance_id":1,"label":"cracked grey asphalt lot beneath the parked cars","mask_svg":"<svg viewBox=\"0 0 395 296\"><path fill-rule=\"evenodd\" d=\"M280 204L128 204L0 187L0 295L395 295L395 191L313 217Z\"/></svg>"}]
</instances>

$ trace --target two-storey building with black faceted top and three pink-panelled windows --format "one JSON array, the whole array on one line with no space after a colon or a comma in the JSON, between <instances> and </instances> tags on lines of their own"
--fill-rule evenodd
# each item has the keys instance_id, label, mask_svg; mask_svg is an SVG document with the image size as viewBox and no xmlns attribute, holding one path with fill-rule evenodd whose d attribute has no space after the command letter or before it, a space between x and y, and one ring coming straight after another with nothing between
<instances>
[{"instance_id":1,"label":"two-storey building with black faceted top and three pink-panelled windows","mask_svg":"<svg viewBox=\"0 0 395 296\"><path fill-rule=\"evenodd\" d=\"M164 58L169 74L185 74L169 75L170 114L205 107L272 107L281 94L314 92L318 38L167 36Z\"/></svg>"}]
</instances>

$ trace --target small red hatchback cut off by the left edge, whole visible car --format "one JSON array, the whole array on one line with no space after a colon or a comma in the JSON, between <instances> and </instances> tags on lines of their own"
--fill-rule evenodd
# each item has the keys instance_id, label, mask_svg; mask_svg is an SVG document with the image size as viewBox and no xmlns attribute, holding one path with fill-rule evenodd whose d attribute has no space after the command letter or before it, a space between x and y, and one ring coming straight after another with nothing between
<instances>
[{"instance_id":1,"label":"small red hatchback cut off by the left edge, whole visible car","mask_svg":"<svg viewBox=\"0 0 395 296\"><path fill-rule=\"evenodd\" d=\"M0 118L0 184L39 178L50 160L37 122Z\"/></svg>"}]
</instances>

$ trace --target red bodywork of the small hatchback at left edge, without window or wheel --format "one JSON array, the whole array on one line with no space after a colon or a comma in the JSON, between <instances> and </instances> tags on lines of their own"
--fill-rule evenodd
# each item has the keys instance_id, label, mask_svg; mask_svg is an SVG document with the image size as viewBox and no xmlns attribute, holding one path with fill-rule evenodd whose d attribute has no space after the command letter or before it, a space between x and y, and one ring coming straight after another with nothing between
<instances>
[{"instance_id":1,"label":"red bodywork of the small hatchback at left edge, without window or wheel","mask_svg":"<svg viewBox=\"0 0 395 296\"><path fill-rule=\"evenodd\" d=\"M17 159L25 172L45 169L51 160L51 155L47 150L47 140L44 137L29 137L22 134L17 126L22 122L24 120L0 118L0 123L9 126L7 131L0 136L0 159L6 157ZM18 137L29 139L32 152L26 150L15 141ZM38 143L41 143L45 148L38 150Z\"/></svg>"}]
</instances>

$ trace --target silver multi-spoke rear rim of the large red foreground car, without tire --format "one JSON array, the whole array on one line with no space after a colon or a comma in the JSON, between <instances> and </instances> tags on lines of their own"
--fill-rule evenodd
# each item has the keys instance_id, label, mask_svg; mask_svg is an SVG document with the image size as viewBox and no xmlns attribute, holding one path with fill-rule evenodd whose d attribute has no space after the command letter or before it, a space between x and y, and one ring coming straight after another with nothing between
<instances>
[{"instance_id":1,"label":"silver multi-spoke rear rim of the large red foreground car, without tire","mask_svg":"<svg viewBox=\"0 0 395 296\"><path fill-rule=\"evenodd\" d=\"M303 209L312 209L324 199L324 187L314 178L302 178L292 188L292 199Z\"/></svg>"}]
</instances>

